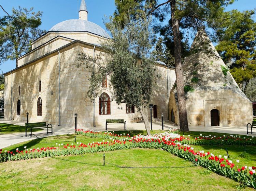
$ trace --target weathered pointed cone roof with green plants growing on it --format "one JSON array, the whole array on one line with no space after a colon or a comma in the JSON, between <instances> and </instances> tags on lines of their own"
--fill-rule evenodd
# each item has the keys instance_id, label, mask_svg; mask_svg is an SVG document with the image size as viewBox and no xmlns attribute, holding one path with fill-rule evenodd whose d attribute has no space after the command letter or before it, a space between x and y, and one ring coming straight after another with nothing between
<instances>
[{"instance_id":1,"label":"weathered pointed cone roof with green plants growing on it","mask_svg":"<svg viewBox=\"0 0 256 191\"><path fill-rule=\"evenodd\" d=\"M205 32L198 32L190 48L190 54L183 63L184 86L189 85L196 90L227 89L239 93L248 99L240 90L233 76L227 71L224 75L222 67L226 67L209 37ZM197 82L192 82L198 78ZM176 86L171 90L176 97ZM189 91L186 96L189 96Z\"/></svg>"}]
</instances>

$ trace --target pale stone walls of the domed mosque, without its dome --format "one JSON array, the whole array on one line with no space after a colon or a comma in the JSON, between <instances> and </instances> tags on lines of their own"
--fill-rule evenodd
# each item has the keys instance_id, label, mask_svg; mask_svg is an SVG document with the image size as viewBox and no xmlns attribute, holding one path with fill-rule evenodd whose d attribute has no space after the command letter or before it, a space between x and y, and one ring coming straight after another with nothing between
<instances>
[{"instance_id":1,"label":"pale stone walls of the domed mosque, without its dome","mask_svg":"<svg viewBox=\"0 0 256 191\"><path fill-rule=\"evenodd\" d=\"M48 37L47 37L48 38ZM64 38L65 37L61 37ZM51 45L60 42L61 45ZM74 113L78 114L78 126L92 127L94 112L93 104L85 100L85 94L89 86L88 76L90 73L85 66L76 68L77 53L84 51L93 55L94 44L73 40L63 46L63 41L50 40L47 46L57 49L45 49L39 46L26 55L19 58L26 60L20 67L4 74L5 76L5 119L26 120L29 113L29 121L46 121L47 123L59 123L59 55L60 52L60 124L73 125ZM41 51L42 50L42 51ZM50 50L47 52L45 50ZM36 52L45 53L38 56ZM100 53L100 47L95 48L95 55ZM31 56L31 54L37 56ZM157 72L161 75L157 82L158 88L154 91L152 103L157 105L157 115L163 112L165 119L168 118L167 97L167 71L168 88L173 86L175 72L173 68L166 65L156 64ZM39 92L39 81L41 81L41 92ZM108 79L107 79L108 81ZM20 86L20 95L18 87ZM111 93L108 88L103 92ZM11 93L12 92L12 93ZM12 95L11 95L12 94ZM37 116L37 100L42 99L42 116ZM11 100L12 99L12 100ZM21 102L21 114L17 115L17 101ZM12 106L11 106L12 105ZM12 109L11 109L12 108ZM12 111L11 111L12 110ZM148 110L149 111L149 110ZM141 117L140 112L135 109L134 114L126 114L125 103L117 105L111 102L111 115L99 115L99 98L95 100L95 125L105 124L106 119L125 119L128 123L131 119Z\"/></svg>"}]
</instances>

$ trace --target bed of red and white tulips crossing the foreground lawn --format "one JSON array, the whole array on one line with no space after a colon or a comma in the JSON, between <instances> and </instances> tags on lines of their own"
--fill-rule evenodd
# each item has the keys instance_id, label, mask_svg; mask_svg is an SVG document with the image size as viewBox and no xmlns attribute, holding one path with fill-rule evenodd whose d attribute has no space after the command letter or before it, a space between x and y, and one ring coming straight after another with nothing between
<instances>
[{"instance_id":1,"label":"bed of red and white tulips crossing the foreground lawn","mask_svg":"<svg viewBox=\"0 0 256 191\"><path fill-rule=\"evenodd\" d=\"M28 160L32 158L56 157L66 155L81 155L96 152L108 152L122 149L144 148L144 149L163 149L178 157L185 158L197 166L207 168L215 173L226 176L228 178L239 181L244 186L256 187L255 167L238 166L227 158L222 156L214 156L210 152L198 151L182 142L190 141L188 138L174 134L172 132L159 133L152 136L138 135L129 138L128 134L121 136L113 133L98 133L93 131L79 131L85 136L99 136L104 138L119 138L111 141L92 142L83 144L59 144L58 147L42 147L37 149L19 150L16 152L0 150L1 161ZM127 141L128 140L128 141ZM214 140L215 141L215 140Z\"/></svg>"}]
</instances>

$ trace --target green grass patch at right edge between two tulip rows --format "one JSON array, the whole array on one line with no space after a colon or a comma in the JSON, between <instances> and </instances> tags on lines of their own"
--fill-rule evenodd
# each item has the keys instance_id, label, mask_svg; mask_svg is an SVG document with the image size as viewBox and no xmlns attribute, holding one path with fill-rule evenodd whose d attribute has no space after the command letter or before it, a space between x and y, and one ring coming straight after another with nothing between
<instances>
[{"instance_id":1,"label":"green grass patch at right edge between two tulip rows","mask_svg":"<svg viewBox=\"0 0 256 191\"><path fill-rule=\"evenodd\" d=\"M239 145L225 145L225 146L198 146L190 145L194 147L195 151L210 152L216 156L222 155L227 156L228 150L229 160L236 162L239 160L239 165L246 165L248 167L256 167L256 147L251 145L239 146Z\"/></svg>"}]
</instances>

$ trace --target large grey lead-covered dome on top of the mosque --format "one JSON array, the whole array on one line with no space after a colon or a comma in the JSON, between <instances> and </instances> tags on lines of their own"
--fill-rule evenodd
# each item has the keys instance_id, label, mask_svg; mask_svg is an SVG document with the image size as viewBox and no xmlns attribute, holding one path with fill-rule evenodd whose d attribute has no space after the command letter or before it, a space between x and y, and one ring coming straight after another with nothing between
<instances>
[{"instance_id":1,"label":"large grey lead-covered dome on top of the mosque","mask_svg":"<svg viewBox=\"0 0 256 191\"><path fill-rule=\"evenodd\" d=\"M70 19L59 22L49 32L88 32L109 38L108 33L98 24L83 19Z\"/></svg>"}]
</instances>

